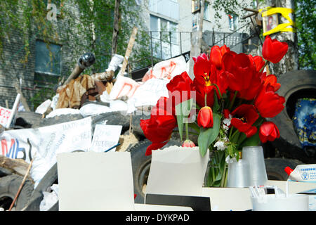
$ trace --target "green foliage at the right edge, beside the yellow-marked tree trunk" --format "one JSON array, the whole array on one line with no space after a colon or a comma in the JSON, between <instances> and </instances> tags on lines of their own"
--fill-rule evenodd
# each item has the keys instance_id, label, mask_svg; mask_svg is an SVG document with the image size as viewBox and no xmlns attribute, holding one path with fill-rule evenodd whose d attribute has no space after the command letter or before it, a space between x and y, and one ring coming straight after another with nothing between
<instances>
[{"instance_id":1,"label":"green foliage at the right edge, beside the yellow-marked tree trunk","mask_svg":"<svg viewBox=\"0 0 316 225\"><path fill-rule=\"evenodd\" d=\"M301 69L316 68L316 1L295 1L295 22L298 37L298 62Z\"/></svg>"}]
</instances>

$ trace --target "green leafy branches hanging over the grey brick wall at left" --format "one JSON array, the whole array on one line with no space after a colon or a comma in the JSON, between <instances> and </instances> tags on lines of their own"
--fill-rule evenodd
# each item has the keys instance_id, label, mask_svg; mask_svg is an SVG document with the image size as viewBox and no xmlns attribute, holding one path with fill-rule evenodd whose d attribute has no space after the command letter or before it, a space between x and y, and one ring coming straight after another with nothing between
<instances>
[{"instance_id":1,"label":"green leafy branches hanging over the grey brick wall at left","mask_svg":"<svg viewBox=\"0 0 316 225\"><path fill-rule=\"evenodd\" d=\"M47 20L47 3L55 4L60 13L57 21ZM14 62L11 58L22 51L24 56L18 60L22 65L27 65L30 42L41 39L47 44L62 44L63 55L70 56L71 61L63 61L63 70L60 77L69 77L77 63L78 58L86 52L94 53L96 63L85 70L86 74L103 72L107 69L112 58L112 32L114 18L114 0L1 0L0 1L0 60L1 67L6 67L6 62ZM121 20L119 21L119 36L117 53L125 55L131 31L134 26L138 27L136 43L129 57L129 70L150 65L150 38L140 18L140 8L135 1L121 0L119 6ZM23 49L13 53L11 58L4 60L3 44L5 39L11 39L13 32L21 34L24 44ZM65 48L64 48L65 47ZM67 49L67 50L66 50ZM67 51L67 53L65 53ZM65 68L68 68L65 70ZM127 72L128 72L127 71ZM11 75L15 76L15 75ZM17 77L12 77L16 79ZM52 84L51 84L52 85ZM48 86L40 92L52 93ZM46 95L37 92L31 99L43 101Z\"/></svg>"}]
</instances>

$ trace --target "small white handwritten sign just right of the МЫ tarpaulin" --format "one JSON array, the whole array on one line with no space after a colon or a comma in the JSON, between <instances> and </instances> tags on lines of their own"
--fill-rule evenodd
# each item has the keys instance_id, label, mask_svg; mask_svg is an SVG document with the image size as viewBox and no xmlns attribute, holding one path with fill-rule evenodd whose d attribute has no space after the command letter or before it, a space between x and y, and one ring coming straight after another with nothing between
<instances>
[{"instance_id":1,"label":"small white handwritten sign just right of the \u041c\u042b tarpaulin","mask_svg":"<svg viewBox=\"0 0 316 225\"><path fill-rule=\"evenodd\" d=\"M121 128L122 126L120 125L96 124L90 150L102 153L115 146L119 142ZM112 148L110 151L115 150L116 148Z\"/></svg>"}]
</instances>

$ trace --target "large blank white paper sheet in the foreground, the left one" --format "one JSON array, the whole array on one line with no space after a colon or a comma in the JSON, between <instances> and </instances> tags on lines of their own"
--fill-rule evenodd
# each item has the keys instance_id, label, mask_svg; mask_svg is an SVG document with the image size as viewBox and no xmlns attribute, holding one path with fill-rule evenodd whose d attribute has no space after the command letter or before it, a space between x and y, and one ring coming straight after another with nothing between
<instances>
[{"instance_id":1,"label":"large blank white paper sheet in the foreground, the left one","mask_svg":"<svg viewBox=\"0 0 316 225\"><path fill-rule=\"evenodd\" d=\"M60 153L59 210L135 210L129 152Z\"/></svg>"}]
</instances>

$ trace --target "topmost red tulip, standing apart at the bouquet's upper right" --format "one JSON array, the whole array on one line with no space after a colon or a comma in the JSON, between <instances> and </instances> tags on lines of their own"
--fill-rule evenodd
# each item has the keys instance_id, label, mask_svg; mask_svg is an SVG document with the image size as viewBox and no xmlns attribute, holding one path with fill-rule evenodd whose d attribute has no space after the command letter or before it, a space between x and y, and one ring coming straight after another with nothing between
<instances>
[{"instance_id":1,"label":"topmost red tulip, standing apart at the bouquet's upper right","mask_svg":"<svg viewBox=\"0 0 316 225\"><path fill-rule=\"evenodd\" d=\"M279 63L279 60L284 57L288 49L287 42L280 42L267 36L263 42L262 56L271 63Z\"/></svg>"}]
</instances>

